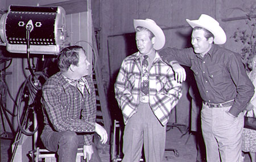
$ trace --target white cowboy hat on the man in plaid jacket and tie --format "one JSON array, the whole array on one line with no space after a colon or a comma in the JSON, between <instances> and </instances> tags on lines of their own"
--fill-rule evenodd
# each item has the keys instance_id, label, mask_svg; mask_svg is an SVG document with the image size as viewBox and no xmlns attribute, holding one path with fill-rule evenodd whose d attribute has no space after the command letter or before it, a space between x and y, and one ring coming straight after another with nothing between
<instances>
[{"instance_id":1,"label":"white cowboy hat on the man in plaid jacket and tie","mask_svg":"<svg viewBox=\"0 0 256 162\"><path fill-rule=\"evenodd\" d=\"M155 35L155 44L154 49L159 50L162 49L164 44L166 43L166 37L162 29L151 19L134 19L133 20L134 29L136 30L137 27L144 27L150 30Z\"/></svg>"}]
</instances>

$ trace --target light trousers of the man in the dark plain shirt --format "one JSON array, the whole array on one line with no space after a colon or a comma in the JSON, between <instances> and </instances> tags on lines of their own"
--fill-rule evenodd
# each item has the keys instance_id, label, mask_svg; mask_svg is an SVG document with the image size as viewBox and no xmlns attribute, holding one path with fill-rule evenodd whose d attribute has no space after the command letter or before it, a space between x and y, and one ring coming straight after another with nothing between
<instances>
[{"instance_id":1,"label":"light trousers of the man in the dark plain shirt","mask_svg":"<svg viewBox=\"0 0 256 162\"><path fill-rule=\"evenodd\" d=\"M226 113L230 108L203 104L201 124L208 162L241 162L243 113L234 118Z\"/></svg>"}]
</instances>

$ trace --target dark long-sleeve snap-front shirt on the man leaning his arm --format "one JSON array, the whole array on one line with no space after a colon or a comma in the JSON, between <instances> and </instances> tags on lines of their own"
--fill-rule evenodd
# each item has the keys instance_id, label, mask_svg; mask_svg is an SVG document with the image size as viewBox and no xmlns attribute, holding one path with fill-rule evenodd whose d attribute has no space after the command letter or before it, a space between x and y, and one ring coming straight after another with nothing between
<instances>
[{"instance_id":1,"label":"dark long-sleeve snap-front shirt on the man leaning his arm","mask_svg":"<svg viewBox=\"0 0 256 162\"><path fill-rule=\"evenodd\" d=\"M195 54L193 48L166 48L159 54L166 63L177 61L191 67L204 101L218 104L234 100L229 112L236 117L254 94L241 56L228 49L213 45L204 57Z\"/></svg>"}]
</instances>

